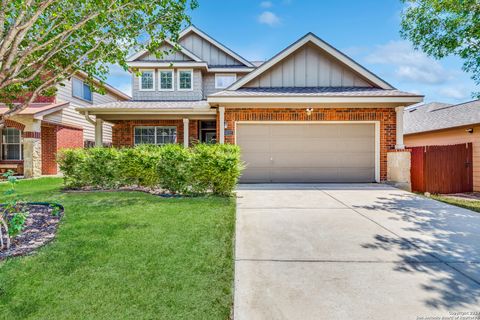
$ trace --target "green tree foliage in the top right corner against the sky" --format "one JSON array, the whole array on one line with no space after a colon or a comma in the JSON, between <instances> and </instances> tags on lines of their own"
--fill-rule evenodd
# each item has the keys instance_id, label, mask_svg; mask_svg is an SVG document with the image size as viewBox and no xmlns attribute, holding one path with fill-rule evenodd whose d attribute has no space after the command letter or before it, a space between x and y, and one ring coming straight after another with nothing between
<instances>
[{"instance_id":1,"label":"green tree foliage in the top right corner against the sky","mask_svg":"<svg viewBox=\"0 0 480 320\"><path fill-rule=\"evenodd\" d=\"M402 1L402 36L434 58L459 56L463 69L480 85L480 1Z\"/></svg>"}]
</instances>

